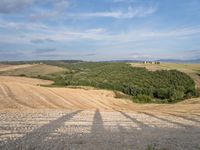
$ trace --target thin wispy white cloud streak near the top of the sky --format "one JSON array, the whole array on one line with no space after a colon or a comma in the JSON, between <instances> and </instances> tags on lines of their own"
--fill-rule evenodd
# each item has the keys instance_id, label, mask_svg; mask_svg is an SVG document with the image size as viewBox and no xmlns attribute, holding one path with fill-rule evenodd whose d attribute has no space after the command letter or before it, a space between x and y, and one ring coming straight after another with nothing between
<instances>
[{"instance_id":1,"label":"thin wispy white cloud streak near the top of the sky","mask_svg":"<svg viewBox=\"0 0 200 150\"><path fill-rule=\"evenodd\" d=\"M42 19L88 19L88 18L115 18L115 19L131 19L137 17L145 17L156 12L157 8L150 7L128 7L126 11L113 10L102 12L82 12L82 13L70 13L67 12L67 8L70 6L68 1L61 1L54 3L53 10L37 10L36 13L30 15L32 21Z\"/></svg>"}]
</instances>

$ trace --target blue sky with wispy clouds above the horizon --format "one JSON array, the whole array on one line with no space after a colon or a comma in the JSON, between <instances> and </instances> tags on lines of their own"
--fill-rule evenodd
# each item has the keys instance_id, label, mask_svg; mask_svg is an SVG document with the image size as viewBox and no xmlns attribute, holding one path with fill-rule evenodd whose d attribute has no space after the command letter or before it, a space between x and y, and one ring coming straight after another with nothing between
<instances>
[{"instance_id":1,"label":"blue sky with wispy clouds above the horizon","mask_svg":"<svg viewBox=\"0 0 200 150\"><path fill-rule=\"evenodd\" d=\"M200 0L0 0L0 61L200 59Z\"/></svg>"}]
</instances>

